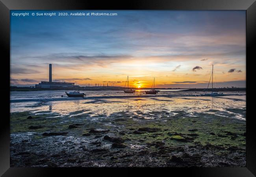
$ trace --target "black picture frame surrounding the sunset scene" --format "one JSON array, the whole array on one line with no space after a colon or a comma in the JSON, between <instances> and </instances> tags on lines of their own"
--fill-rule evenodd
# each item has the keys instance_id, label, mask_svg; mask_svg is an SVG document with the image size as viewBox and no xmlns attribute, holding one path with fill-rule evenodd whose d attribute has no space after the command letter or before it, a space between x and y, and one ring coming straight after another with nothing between
<instances>
[{"instance_id":1,"label":"black picture frame surrounding the sunset scene","mask_svg":"<svg viewBox=\"0 0 256 177\"><path fill-rule=\"evenodd\" d=\"M10 62L10 10L77 10L77 9L118 9L118 10L246 10L246 87L247 87L247 135L246 135L246 149L247 149L247 166L246 167L221 167L221 168L150 168L148 172L169 172L169 174L177 173L183 175L184 173L195 176L254 176L256 175L256 133L254 128L253 104L249 104L250 100L254 99L256 91L253 80L253 44L256 43L256 2L255 0L126 0L126 1L102 1L96 0L0 0L0 44L2 48L1 53L1 87L2 94L2 116L0 118L0 175L4 177L19 177L19 176L76 176L78 172L82 175L89 175L88 170L93 170L94 175L100 171L104 171L105 175L115 175L110 172L111 168L10 168L10 150L9 150L9 91L10 78L6 74L10 72L7 64ZM249 97L250 95L250 97ZM252 116L249 117L249 114ZM134 168L133 168L134 169ZM116 170L116 169L115 169ZM133 175L130 168L122 168L123 173Z\"/></svg>"}]
</instances>

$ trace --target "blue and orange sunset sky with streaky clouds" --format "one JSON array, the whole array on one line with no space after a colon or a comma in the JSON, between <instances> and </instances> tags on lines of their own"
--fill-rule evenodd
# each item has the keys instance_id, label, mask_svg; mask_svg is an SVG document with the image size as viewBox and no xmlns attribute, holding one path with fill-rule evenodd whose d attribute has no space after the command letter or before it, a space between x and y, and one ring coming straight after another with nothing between
<instances>
[{"instance_id":1,"label":"blue and orange sunset sky with streaky clouds","mask_svg":"<svg viewBox=\"0 0 256 177\"><path fill-rule=\"evenodd\" d=\"M11 11L11 86L245 87L245 11ZM117 13L116 16L58 16Z\"/></svg>"}]
</instances>

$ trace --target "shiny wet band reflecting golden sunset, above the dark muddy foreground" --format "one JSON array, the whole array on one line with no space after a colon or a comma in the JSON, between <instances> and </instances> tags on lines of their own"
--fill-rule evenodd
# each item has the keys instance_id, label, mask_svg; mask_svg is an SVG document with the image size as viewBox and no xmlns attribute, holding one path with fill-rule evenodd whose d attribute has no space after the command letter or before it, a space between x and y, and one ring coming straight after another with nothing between
<instances>
[{"instance_id":1,"label":"shiny wet band reflecting golden sunset, above the dark muddy foreground","mask_svg":"<svg viewBox=\"0 0 256 177\"><path fill-rule=\"evenodd\" d=\"M245 96L236 96L237 99L243 99ZM66 100L43 102L42 104L32 102L11 103L11 111L51 111L60 115L72 115L74 112L80 114L89 113L91 116L105 115L119 112L140 113L146 116L152 111L186 111L189 115L195 113L208 112L221 115L230 108L245 108L245 101L237 101L215 97L152 97L152 98L128 98L128 99L85 99L85 100ZM53 109L54 105L54 109ZM228 114L228 113L227 113ZM238 113L239 114L239 113ZM222 114L224 115L224 114ZM241 116L240 116L241 117Z\"/></svg>"}]
</instances>

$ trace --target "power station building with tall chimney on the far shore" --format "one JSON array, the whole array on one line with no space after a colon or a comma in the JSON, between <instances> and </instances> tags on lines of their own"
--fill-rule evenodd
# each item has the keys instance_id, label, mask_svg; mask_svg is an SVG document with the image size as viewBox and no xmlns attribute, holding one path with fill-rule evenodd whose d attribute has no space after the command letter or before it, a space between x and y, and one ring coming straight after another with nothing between
<instances>
[{"instance_id":1,"label":"power station building with tall chimney on the far shore","mask_svg":"<svg viewBox=\"0 0 256 177\"><path fill-rule=\"evenodd\" d=\"M75 88L74 82L52 82L52 64L49 64L49 82L41 81L35 88Z\"/></svg>"}]
</instances>

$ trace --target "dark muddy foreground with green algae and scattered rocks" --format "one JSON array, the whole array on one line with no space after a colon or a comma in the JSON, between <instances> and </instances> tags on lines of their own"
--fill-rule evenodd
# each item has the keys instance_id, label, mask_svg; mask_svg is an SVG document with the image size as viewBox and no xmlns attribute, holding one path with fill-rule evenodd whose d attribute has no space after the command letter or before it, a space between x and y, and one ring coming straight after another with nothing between
<instances>
[{"instance_id":1,"label":"dark muddy foreground with green algae and scattered rocks","mask_svg":"<svg viewBox=\"0 0 256 177\"><path fill-rule=\"evenodd\" d=\"M11 113L11 167L246 166L245 120L215 113Z\"/></svg>"}]
</instances>

